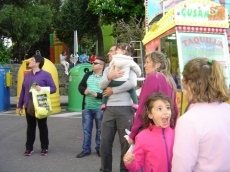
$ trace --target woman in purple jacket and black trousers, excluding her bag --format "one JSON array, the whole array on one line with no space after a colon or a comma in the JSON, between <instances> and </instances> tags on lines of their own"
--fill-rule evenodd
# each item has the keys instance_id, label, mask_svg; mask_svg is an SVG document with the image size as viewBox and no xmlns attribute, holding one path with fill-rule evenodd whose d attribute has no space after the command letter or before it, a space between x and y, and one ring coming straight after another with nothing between
<instances>
[{"instance_id":1,"label":"woman in purple jacket and black trousers, excluding her bag","mask_svg":"<svg viewBox=\"0 0 230 172\"><path fill-rule=\"evenodd\" d=\"M50 87L50 93L56 92L56 86L54 84L53 78L50 73L42 70L44 65L44 58L41 55L34 55L30 59L29 68L31 72L25 74L24 81L22 83L22 90L18 102L19 114L22 114L23 106L26 112L26 121L27 121L27 137L26 137L26 151L25 156L30 156L33 153L33 144L35 141L36 135L36 125L38 123L38 128L40 131L40 141L41 141L41 155L47 155L49 138L48 138L48 127L47 127L47 118L37 119L35 115L28 114L27 105L29 97L32 96L29 94L30 87L33 83L36 83L35 89L37 91L41 90L41 87Z\"/></svg>"}]
</instances>

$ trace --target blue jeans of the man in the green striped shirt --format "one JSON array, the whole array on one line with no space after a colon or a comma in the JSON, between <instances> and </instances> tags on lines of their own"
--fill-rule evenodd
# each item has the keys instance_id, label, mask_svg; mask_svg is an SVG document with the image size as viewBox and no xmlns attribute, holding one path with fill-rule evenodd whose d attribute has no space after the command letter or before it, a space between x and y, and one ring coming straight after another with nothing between
<instances>
[{"instance_id":1,"label":"blue jeans of the man in the green striped shirt","mask_svg":"<svg viewBox=\"0 0 230 172\"><path fill-rule=\"evenodd\" d=\"M100 109L84 109L82 112L82 126L84 131L84 140L82 149L86 153L91 152L91 139L93 130L93 120L96 124L96 151L100 150L100 137L101 137L101 121L103 117L103 111Z\"/></svg>"}]
</instances>

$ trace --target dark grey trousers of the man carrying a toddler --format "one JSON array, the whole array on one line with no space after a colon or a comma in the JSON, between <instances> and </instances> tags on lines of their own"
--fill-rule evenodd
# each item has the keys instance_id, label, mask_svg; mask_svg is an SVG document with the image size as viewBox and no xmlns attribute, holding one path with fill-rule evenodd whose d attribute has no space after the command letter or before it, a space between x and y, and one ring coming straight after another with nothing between
<instances>
[{"instance_id":1,"label":"dark grey trousers of the man carrying a toddler","mask_svg":"<svg viewBox=\"0 0 230 172\"><path fill-rule=\"evenodd\" d=\"M130 145L125 139L125 129L130 130L133 124L134 110L131 106L107 106L101 124L101 172L112 172L112 148L116 132L121 146L120 172L128 172L123 156Z\"/></svg>"}]
</instances>

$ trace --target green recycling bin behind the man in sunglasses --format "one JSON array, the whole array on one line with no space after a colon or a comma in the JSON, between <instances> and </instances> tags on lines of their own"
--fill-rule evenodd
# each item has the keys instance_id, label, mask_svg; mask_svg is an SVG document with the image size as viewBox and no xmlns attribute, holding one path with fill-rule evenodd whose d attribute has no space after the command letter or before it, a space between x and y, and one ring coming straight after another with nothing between
<instances>
[{"instance_id":1,"label":"green recycling bin behind the man in sunglasses","mask_svg":"<svg viewBox=\"0 0 230 172\"><path fill-rule=\"evenodd\" d=\"M92 65L83 63L75 66L69 71L69 87L68 87L68 106L67 111L81 112L83 96L78 91L83 76L86 72L92 70Z\"/></svg>"}]
</instances>

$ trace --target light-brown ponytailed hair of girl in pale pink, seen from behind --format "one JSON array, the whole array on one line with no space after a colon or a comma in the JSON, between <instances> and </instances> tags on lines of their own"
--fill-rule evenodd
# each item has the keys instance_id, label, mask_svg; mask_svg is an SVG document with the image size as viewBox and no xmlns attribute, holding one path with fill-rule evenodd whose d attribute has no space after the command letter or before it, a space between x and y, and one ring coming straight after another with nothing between
<instances>
[{"instance_id":1,"label":"light-brown ponytailed hair of girl in pale pink, seen from behind","mask_svg":"<svg viewBox=\"0 0 230 172\"><path fill-rule=\"evenodd\" d=\"M183 87L188 90L191 103L225 102L229 91L221 64L208 58L195 58L184 67Z\"/></svg>"}]
</instances>

